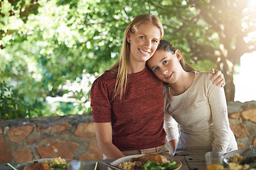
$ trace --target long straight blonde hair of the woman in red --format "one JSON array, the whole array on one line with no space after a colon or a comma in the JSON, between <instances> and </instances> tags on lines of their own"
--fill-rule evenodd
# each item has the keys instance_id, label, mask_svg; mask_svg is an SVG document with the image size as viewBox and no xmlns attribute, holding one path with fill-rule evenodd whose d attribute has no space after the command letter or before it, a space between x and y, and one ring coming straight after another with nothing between
<instances>
[{"instance_id":1,"label":"long straight blonde hair of the woman in red","mask_svg":"<svg viewBox=\"0 0 256 170\"><path fill-rule=\"evenodd\" d=\"M120 92L120 98L122 98L127 86L128 62L130 54L130 44L127 42L127 36L129 33L134 33L136 28L142 23L151 23L153 26L158 27L161 33L161 38L164 36L164 28L161 21L157 16L151 15L149 13L137 16L131 23L129 23L129 26L124 32L124 40L122 43L122 50L120 55L117 59L117 62L110 68L110 70L118 70L117 80L114 87L114 96L117 96L117 93Z\"/></svg>"}]
</instances>

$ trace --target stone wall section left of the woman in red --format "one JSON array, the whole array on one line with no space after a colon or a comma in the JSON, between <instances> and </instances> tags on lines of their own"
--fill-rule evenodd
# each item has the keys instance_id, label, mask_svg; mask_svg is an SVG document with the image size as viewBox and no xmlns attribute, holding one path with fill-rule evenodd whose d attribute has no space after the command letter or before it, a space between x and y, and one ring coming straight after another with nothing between
<instances>
[{"instance_id":1,"label":"stone wall section left of the woman in red","mask_svg":"<svg viewBox=\"0 0 256 170\"><path fill-rule=\"evenodd\" d=\"M0 163L33 159L102 159L92 115L0 120Z\"/></svg>"}]
</instances>

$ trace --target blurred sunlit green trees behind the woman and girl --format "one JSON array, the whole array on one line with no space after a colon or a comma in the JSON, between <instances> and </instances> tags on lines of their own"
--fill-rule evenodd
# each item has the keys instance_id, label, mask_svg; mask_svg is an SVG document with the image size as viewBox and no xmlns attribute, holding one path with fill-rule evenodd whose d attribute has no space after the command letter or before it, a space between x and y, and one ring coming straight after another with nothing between
<instances>
[{"instance_id":1,"label":"blurred sunlit green trees behind the woman and girl","mask_svg":"<svg viewBox=\"0 0 256 170\"><path fill-rule=\"evenodd\" d=\"M0 118L90 114L92 82L142 13L193 67L220 69L234 101L235 67L256 50L255 0L0 0Z\"/></svg>"}]
</instances>

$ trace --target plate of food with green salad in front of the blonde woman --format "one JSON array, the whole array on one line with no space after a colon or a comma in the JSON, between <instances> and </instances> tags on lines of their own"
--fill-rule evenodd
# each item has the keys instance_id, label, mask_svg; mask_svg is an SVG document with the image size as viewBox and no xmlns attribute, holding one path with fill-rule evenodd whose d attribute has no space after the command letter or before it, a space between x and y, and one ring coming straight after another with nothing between
<instances>
[{"instance_id":1,"label":"plate of food with green salad in front of the blonde woman","mask_svg":"<svg viewBox=\"0 0 256 170\"><path fill-rule=\"evenodd\" d=\"M180 169L182 164L178 159L166 157L160 154L136 154L122 157L111 163L124 170L140 170L140 169ZM109 170L112 168L108 167Z\"/></svg>"}]
</instances>

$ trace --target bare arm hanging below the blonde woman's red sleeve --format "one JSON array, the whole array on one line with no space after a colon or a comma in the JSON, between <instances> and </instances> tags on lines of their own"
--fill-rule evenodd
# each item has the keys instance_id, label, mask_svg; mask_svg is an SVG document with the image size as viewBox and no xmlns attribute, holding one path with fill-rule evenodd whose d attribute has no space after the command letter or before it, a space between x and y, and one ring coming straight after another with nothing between
<instances>
[{"instance_id":1,"label":"bare arm hanging below the blonde woman's red sleeve","mask_svg":"<svg viewBox=\"0 0 256 170\"><path fill-rule=\"evenodd\" d=\"M94 123L97 142L100 150L107 159L118 159L124 157L124 154L112 143L112 125L111 123Z\"/></svg>"}]
</instances>

